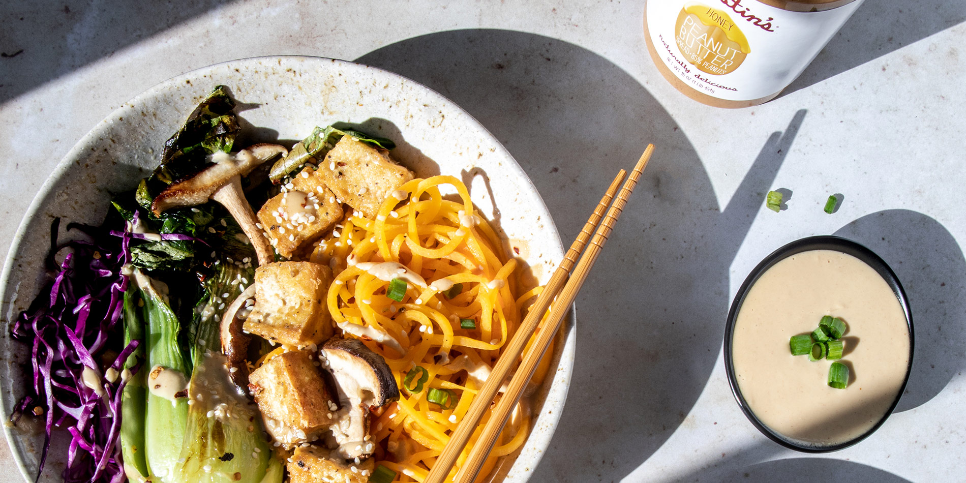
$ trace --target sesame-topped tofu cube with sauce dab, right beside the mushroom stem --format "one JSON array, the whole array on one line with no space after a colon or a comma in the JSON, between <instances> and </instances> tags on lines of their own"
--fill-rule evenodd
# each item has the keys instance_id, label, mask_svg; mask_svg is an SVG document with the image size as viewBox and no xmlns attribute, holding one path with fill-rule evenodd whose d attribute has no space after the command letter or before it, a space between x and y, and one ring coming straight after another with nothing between
<instances>
[{"instance_id":1,"label":"sesame-topped tofu cube with sauce dab, right beside the mushroom stem","mask_svg":"<svg viewBox=\"0 0 966 483\"><path fill-rule=\"evenodd\" d=\"M290 182L292 189L278 193L258 211L258 221L275 251L285 258L305 251L342 219L342 205L322 178L305 168Z\"/></svg>"}]
</instances>

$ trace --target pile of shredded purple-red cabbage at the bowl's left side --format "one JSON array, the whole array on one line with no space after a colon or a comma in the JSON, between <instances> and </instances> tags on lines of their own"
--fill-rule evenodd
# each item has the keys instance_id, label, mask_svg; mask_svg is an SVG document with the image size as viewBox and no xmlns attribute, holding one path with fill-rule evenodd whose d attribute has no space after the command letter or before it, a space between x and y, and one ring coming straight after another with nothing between
<instances>
[{"instance_id":1,"label":"pile of shredded purple-red cabbage at the bowl's left side","mask_svg":"<svg viewBox=\"0 0 966 483\"><path fill-rule=\"evenodd\" d=\"M108 369L102 372L101 364L109 364L111 372L121 375L138 345L138 341L131 341L118 355L107 350L109 345L123 344L118 335L123 332L128 277L122 267L128 263L130 234L115 238L100 228L71 224L69 229L80 230L91 241L58 245L58 224L55 220L51 227L49 260L65 249L69 253L53 280L11 328L14 339L31 345L33 366L33 384L11 419L15 422L25 412L45 417L38 479L51 433L57 427L71 434L65 482L121 483L125 480L119 443L121 394L127 378L107 381L104 373ZM136 372L142 362L132 369ZM85 368L97 376L88 380L97 379L97 383L85 383Z\"/></svg>"}]
</instances>

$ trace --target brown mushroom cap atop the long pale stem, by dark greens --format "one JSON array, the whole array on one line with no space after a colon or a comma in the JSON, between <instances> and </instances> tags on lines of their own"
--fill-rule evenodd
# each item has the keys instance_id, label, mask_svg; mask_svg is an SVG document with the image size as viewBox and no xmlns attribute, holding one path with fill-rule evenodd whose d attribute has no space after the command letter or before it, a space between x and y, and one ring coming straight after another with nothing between
<instances>
[{"instance_id":1,"label":"brown mushroom cap atop the long pale stem, by dark greens","mask_svg":"<svg viewBox=\"0 0 966 483\"><path fill-rule=\"evenodd\" d=\"M288 152L284 146L262 143L249 146L235 155L215 153L212 155L213 165L165 188L156 196L151 209L155 214L160 214L169 208L201 205L219 187L230 182L232 177L247 175L263 162L278 155L285 156Z\"/></svg>"}]
</instances>

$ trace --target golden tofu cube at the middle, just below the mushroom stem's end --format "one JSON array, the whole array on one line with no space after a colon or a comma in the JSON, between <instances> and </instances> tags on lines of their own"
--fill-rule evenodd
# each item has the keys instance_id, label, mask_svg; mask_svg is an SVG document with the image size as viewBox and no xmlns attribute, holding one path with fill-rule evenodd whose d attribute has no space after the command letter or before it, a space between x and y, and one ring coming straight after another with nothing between
<instances>
[{"instance_id":1,"label":"golden tofu cube at the middle, just below the mushroom stem's end","mask_svg":"<svg viewBox=\"0 0 966 483\"><path fill-rule=\"evenodd\" d=\"M334 328L326 295L332 270L311 262L275 262L255 269L255 305L241 326L289 346L322 344Z\"/></svg>"}]
</instances>

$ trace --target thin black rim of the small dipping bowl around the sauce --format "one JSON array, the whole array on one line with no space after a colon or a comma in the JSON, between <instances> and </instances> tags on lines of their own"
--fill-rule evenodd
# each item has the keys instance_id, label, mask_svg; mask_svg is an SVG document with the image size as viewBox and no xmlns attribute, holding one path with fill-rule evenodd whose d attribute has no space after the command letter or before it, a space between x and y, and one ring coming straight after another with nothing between
<instances>
[{"instance_id":1,"label":"thin black rim of the small dipping bowl around the sauce","mask_svg":"<svg viewBox=\"0 0 966 483\"><path fill-rule=\"evenodd\" d=\"M902 380L902 385L899 387L899 391L895 395L895 401L893 401L893 404L889 407L889 410L882 415L882 418L879 419L879 422L875 423L875 426L872 426L872 428L863 435L852 440L839 442L837 444L830 444L827 446L818 446L808 444L803 441L786 438L773 431L768 426L762 424L758 417L754 415L754 412L752 412L751 408L749 408L748 402L745 401L745 397L741 394L741 390L738 388L738 381L734 375L734 361L731 359L731 342L732 337L734 336L734 323L738 318L738 311L741 309L741 305L745 301L745 296L748 294L749 289L751 289L754 285L754 282L758 280L758 277L760 277L765 270L771 269L772 266L779 263L782 259L796 253L810 250L835 250L852 255L853 257L865 262L869 267L875 270L879 276L885 279L886 283L888 283L893 289L895 298L898 298L899 304L902 306L902 311L905 313L906 323L909 326L909 365L906 367L905 379ZM734 394L735 400L738 401L738 406L741 407L741 411L745 413L749 421L752 421L754 427L758 428L758 431L767 436L769 439L787 448L806 453L827 453L830 451L838 451L839 449L849 447L861 440L865 440L869 435L874 433L875 430L879 429L879 427L882 426L882 423L886 422L886 419L889 417L889 415L895 411L895 405L898 404L899 398L902 397L902 392L905 390L905 385L909 382L909 373L912 370L913 347L915 347L912 326L912 312L909 310L909 300L906 298L905 291L902 290L902 284L899 283L899 279L895 276L895 272L890 269L889 266L886 265L886 263L872 250L869 250L867 247L855 241L833 236L809 237L802 240L792 241L775 250L771 255L765 257L765 259L762 260L761 263L759 263L758 266L748 274L748 277L745 278L745 282L741 284L741 288L738 289L738 294L735 295L734 301L731 302L731 310L728 311L726 324L725 371L727 372L727 383L731 386L731 393Z\"/></svg>"}]
</instances>

